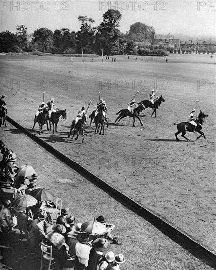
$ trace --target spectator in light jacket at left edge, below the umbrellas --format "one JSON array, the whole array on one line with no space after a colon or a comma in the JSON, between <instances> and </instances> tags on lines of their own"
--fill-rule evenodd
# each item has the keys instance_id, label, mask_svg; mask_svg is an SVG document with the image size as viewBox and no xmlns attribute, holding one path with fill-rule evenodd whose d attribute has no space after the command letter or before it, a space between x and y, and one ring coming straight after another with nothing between
<instances>
[{"instance_id":1,"label":"spectator in light jacket at left edge, below the umbrellas","mask_svg":"<svg viewBox=\"0 0 216 270\"><path fill-rule=\"evenodd\" d=\"M12 232L12 227L13 227L12 219L11 219L12 214L10 211L10 207L11 207L11 201L7 200L5 201L0 212L0 227L1 227L1 230L5 233Z\"/></svg>"}]
</instances>

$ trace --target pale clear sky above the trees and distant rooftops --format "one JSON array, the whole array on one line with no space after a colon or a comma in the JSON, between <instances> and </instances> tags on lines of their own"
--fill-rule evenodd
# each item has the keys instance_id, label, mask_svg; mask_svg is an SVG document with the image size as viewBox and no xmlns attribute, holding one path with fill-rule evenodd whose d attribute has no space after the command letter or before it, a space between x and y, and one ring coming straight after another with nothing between
<instances>
[{"instance_id":1,"label":"pale clear sky above the trees and distant rooftops","mask_svg":"<svg viewBox=\"0 0 216 270\"><path fill-rule=\"evenodd\" d=\"M216 1L197 0L0 0L0 32L16 33L17 25L27 26L28 33L46 27L52 31L81 27L79 15L103 21L108 9L121 12L119 30L141 22L155 28L156 34L216 36Z\"/></svg>"}]
</instances>

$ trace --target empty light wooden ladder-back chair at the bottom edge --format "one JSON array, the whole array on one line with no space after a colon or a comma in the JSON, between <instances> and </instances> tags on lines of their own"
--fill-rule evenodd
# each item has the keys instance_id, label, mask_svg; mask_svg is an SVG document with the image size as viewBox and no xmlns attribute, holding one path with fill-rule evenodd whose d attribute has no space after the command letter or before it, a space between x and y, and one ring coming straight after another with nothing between
<instances>
[{"instance_id":1,"label":"empty light wooden ladder-back chair at the bottom edge","mask_svg":"<svg viewBox=\"0 0 216 270\"><path fill-rule=\"evenodd\" d=\"M42 257L41 257L41 266L42 270L43 265L48 267L48 270L57 269L59 270L59 265L56 258L52 258L52 246L45 245L43 242L40 243Z\"/></svg>"}]
</instances>

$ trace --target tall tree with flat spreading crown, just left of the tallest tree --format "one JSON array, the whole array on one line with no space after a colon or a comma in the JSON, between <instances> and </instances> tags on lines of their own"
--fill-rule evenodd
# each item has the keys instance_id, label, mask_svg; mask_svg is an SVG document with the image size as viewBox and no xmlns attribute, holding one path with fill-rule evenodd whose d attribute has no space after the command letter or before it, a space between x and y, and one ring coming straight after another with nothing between
<instances>
[{"instance_id":1,"label":"tall tree with flat spreading crown, just left of the tallest tree","mask_svg":"<svg viewBox=\"0 0 216 270\"><path fill-rule=\"evenodd\" d=\"M95 22L92 18L87 18L86 16L79 16L78 21L81 22L80 31L76 35L76 48L77 52L81 53L81 49L86 54L92 54L94 46L94 35L95 28L92 24Z\"/></svg>"}]
</instances>

